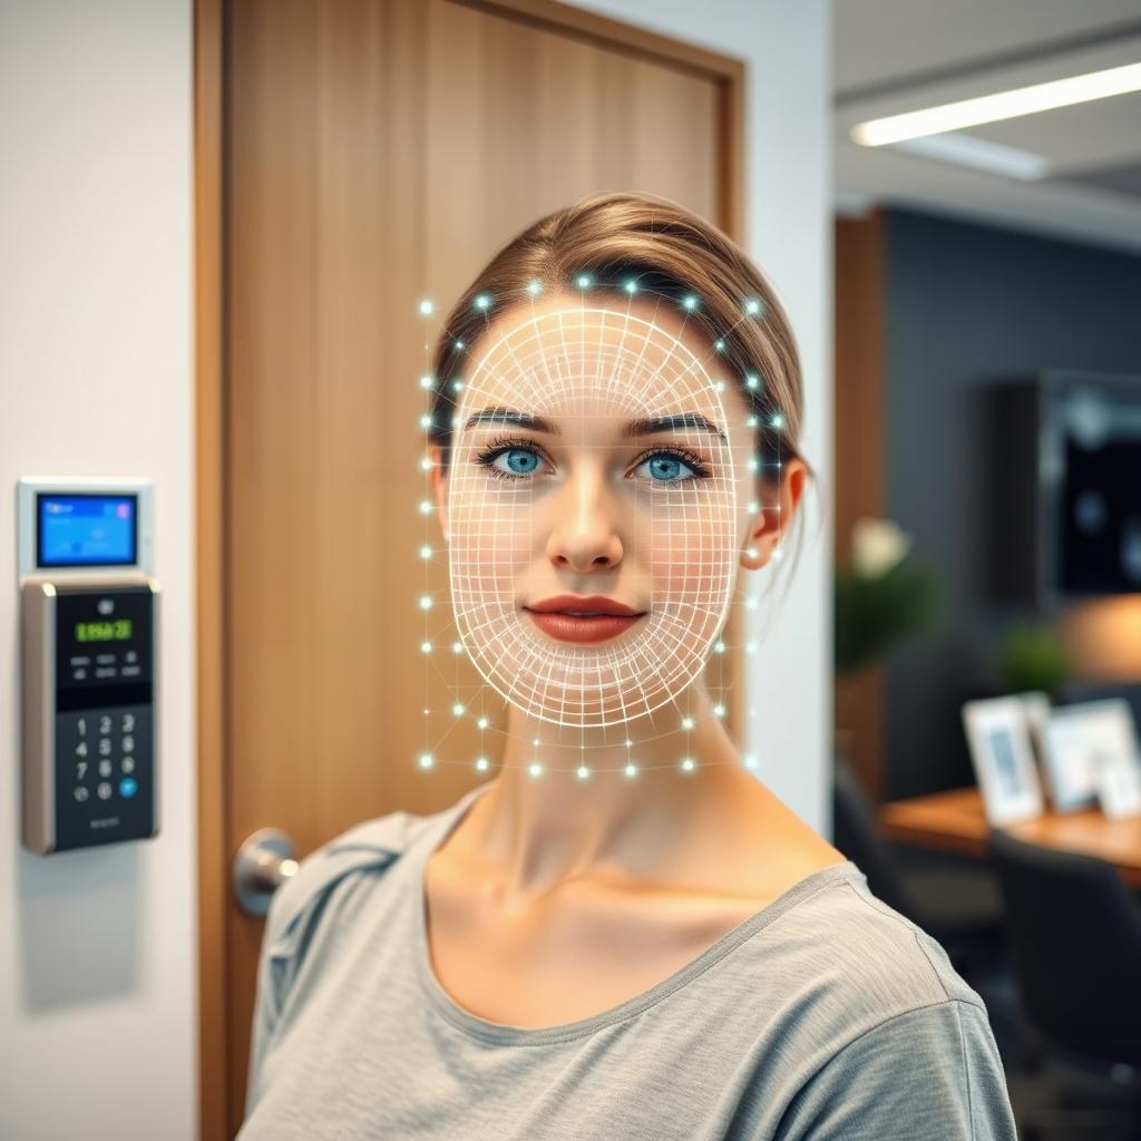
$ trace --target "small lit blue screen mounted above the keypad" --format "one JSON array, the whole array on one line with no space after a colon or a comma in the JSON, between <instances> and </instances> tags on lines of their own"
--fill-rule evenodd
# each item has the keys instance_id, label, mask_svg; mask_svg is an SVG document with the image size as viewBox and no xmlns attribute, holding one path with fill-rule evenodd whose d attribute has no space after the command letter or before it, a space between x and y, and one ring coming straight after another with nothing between
<instances>
[{"instance_id":1,"label":"small lit blue screen mounted above the keypad","mask_svg":"<svg viewBox=\"0 0 1141 1141\"><path fill-rule=\"evenodd\" d=\"M35 537L40 567L133 566L138 561L138 496L41 492Z\"/></svg>"}]
</instances>

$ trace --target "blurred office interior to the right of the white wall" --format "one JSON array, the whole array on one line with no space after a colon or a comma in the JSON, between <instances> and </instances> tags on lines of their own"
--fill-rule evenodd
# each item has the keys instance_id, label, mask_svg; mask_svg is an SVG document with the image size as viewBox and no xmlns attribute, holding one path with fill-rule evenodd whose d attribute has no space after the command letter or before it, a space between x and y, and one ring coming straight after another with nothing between
<instances>
[{"instance_id":1,"label":"blurred office interior to the right of the white wall","mask_svg":"<svg viewBox=\"0 0 1141 1141\"><path fill-rule=\"evenodd\" d=\"M992 843L963 721L1116 701L1135 758L1141 94L853 130L1139 59L1135 2L833 6L835 839L986 997L1026 1136L1141 1130L1141 817L1059 811L1046 741Z\"/></svg>"}]
</instances>

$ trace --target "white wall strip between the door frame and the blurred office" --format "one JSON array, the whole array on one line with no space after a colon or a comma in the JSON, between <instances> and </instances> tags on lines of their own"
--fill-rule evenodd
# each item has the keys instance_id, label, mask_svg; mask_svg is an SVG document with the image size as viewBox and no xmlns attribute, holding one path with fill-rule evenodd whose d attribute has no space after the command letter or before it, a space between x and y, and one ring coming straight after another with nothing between
<instances>
[{"instance_id":1,"label":"white wall strip between the door frame and the blurred office","mask_svg":"<svg viewBox=\"0 0 1141 1141\"><path fill-rule=\"evenodd\" d=\"M784 601L754 613L745 685L758 775L831 837L832 152L828 0L574 0L748 64L745 251L788 309L804 369L801 451L819 477ZM653 187L632 187L653 189ZM826 511L826 513L822 513ZM783 590L774 594L776 599Z\"/></svg>"}]
</instances>

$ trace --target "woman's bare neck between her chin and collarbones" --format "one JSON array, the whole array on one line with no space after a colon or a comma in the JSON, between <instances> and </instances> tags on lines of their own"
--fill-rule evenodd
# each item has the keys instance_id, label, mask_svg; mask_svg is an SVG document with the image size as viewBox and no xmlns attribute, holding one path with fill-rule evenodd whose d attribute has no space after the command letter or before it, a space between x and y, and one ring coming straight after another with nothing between
<instances>
[{"instance_id":1,"label":"woman's bare neck between her chin and collarbones","mask_svg":"<svg viewBox=\"0 0 1141 1141\"><path fill-rule=\"evenodd\" d=\"M502 771L474 807L463 842L504 899L547 895L570 880L667 881L694 845L739 822L746 802L755 810L766 793L742 768L707 694L695 683L686 698L683 712L667 706L661 717L594 730L510 707ZM531 772L536 760L539 776Z\"/></svg>"}]
</instances>

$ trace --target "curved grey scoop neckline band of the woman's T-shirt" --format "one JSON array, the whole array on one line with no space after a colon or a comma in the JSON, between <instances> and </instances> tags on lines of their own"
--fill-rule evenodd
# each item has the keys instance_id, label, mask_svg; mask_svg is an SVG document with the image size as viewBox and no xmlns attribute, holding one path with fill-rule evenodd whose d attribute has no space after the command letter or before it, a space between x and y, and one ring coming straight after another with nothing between
<instances>
[{"instance_id":1,"label":"curved grey scoop neckline band of the woman's T-shirt","mask_svg":"<svg viewBox=\"0 0 1141 1141\"><path fill-rule=\"evenodd\" d=\"M672 974L656 982L649 989L624 1000L616 1006L599 1011L597 1014L590 1014L573 1022L560 1022L557 1026L526 1027L511 1026L507 1022L493 1022L461 1006L444 989L439 979L437 979L428 946L428 897L424 890L428 860L434 852L443 847L447 837L467 816L476 800L492 787L492 783L487 782L466 793L451 809L442 815L439 825L428 831L424 843L421 845L415 864L411 869L413 890L410 892L416 913L413 924L415 932L414 956L421 989L432 1008L451 1022L452 1026L474 1038L485 1042L517 1046L549 1045L556 1042L569 1042L574 1038L586 1037L615 1022L632 1018L698 978L713 966L714 963L720 962L720 960L756 934L758 931L768 926L774 920L778 919L808 896L815 895L833 881L850 880L852 873L863 876L857 865L850 859L845 859L839 864L831 864L827 867L810 873L804 879L798 880L791 888L787 888L772 903L767 904L760 911L754 912L751 916L738 923L737 926L727 931L717 942L706 947L696 958L690 960Z\"/></svg>"}]
</instances>

